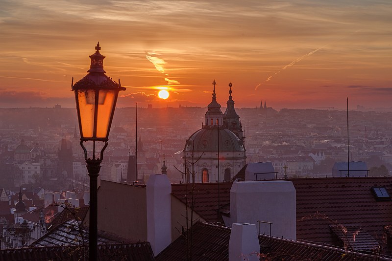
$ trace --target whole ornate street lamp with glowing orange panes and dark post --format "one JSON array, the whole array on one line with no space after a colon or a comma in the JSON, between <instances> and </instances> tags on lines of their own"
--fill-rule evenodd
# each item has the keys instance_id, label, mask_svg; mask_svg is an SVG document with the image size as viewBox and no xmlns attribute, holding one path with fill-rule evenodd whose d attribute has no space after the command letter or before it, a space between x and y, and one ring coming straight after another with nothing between
<instances>
[{"instance_id":1,"label":"whole ornate street lamp with glowing orange panes and dark post","mask_svg":"<svg viewBox=\"0 0 392 261\"><path fill-rule=\"evenodd\" d=\"M89 259L98 260L98 175L103 159L103 151L112 125L114 110L120 90L125 90L119 83L105 75L103 59L99 53L99 42L95 47L96 52L90 55L91 65L88 74L80 81L73 84L75 92L77 118L80 130L80 146L84 151L87 171L90 176L90 224L89 224ZM92 152L88 152L84 142L92 142ZM96 153L96 142L101 142L103 147ZM90 154L90 155L88 155Z\"/></svg>"}]
</instances>

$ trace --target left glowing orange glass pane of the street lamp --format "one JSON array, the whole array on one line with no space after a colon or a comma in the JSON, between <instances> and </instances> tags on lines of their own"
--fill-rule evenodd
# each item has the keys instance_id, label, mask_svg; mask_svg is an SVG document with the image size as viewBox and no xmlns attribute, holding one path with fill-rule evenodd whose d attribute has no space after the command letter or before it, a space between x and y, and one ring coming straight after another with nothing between
<instances>
[{"instance_id":1,"label":"left glowing orange glass pane of the street lamp","mask_svg":"<svg viewBox=\"0 0 392 261\"><path fill-rule=\"evenodd\" d=\"M94 101L95 90L78 89L77 90L80 122L82 126L81 136L92 138L94 135Z\"/></svg>"}]
</instances>

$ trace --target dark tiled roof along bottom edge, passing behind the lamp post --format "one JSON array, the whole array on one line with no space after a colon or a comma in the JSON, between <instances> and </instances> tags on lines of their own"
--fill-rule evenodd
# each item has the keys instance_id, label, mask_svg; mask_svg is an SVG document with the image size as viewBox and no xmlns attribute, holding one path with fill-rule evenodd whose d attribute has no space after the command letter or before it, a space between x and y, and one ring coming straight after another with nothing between
<instances>
[{"instance_id":1,"label":"dark tiled roof along bottom edge, passing behind the lamp post","mask_svg":"<svg viewBox=\"0 0 392 261\"><path fill-rule=\"evenodd\" d=\"M79 261L87 260L81 258L81 250L75 246L46 246L28 247L19 249L0 250L0 261L28 260L28 261ZM88 247L84 253L88 255ZM116 243L98 245L98 261L106 260L137 260L153 261L149 242L138 243Z\"/></svg>"}]
</instances>

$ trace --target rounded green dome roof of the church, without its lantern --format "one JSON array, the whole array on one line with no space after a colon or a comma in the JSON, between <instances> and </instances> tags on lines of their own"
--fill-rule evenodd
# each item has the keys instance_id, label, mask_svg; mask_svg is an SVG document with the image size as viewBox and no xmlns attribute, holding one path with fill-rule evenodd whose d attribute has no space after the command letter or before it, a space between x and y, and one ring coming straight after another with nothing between
<instances>
[{"instance_id":1,"label":"rounded green dome roof of the church, without its lantern","mask_svg":"<svg viewBox=\"0 0 392 261\"><path fill-rule=\"evenodd\" d=\"M218 152L218 128L204 126L203 129L193 133L184 151L192 152ZM219 151L220 152L244 152L244 144L236 134L228 129L219 128Z\"/></svg>"}]
</instances>

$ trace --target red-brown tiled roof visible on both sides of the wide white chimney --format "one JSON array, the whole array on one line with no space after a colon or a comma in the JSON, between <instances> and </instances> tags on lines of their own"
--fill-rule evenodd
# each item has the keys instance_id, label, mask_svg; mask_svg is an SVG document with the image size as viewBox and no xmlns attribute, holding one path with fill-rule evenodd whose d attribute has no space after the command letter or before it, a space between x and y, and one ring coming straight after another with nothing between
<instances>
[{"instance_id":1,"label":"red-brown tiled roof visible on both sides of the wide white chimney","mask_svg":"<svg viewBox=\"0 0 392 261\"><path fill-rule=\"evenodd\" d=\"M362 242L363 247L370 248L374 244L372 239L380 242L384 227L392 225L392 201L376 201L370 191L371 187L384 186L392 195L390 177L287 180L293 182L296 190L297 239L342 246L342 240L330 228L336 222L347 227L360 227L363 233L360 231L358 239L367 240ZM229 215L231 185L220 183L221 214ZM192 196L191 187L188 184L189 197ZM218 184L203 183L195 187L196 213L207 222L218 222ZM172 194L185 202L185 184L172 184Z\"/></svg>"}]
</instances>

